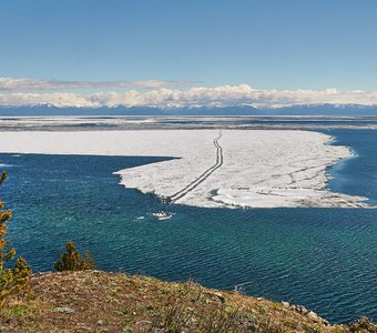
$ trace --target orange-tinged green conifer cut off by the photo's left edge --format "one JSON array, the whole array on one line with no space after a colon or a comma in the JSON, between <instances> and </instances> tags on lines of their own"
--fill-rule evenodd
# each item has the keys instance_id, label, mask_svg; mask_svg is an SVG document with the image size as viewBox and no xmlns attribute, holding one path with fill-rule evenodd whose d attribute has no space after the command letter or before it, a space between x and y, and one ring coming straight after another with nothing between
<instances>
[{"instance_id":1,"label":"orange-tinged green conifer cut off by the photo's left edge","mask_svg":"<svg viewBox=\"0 0 377 333\"><path fill-rule=\"evenodd\" d=\"M7 179L3 172L0 184ZM13 269L6 268L6 263L16 256L16 250L10 248L6 240L7 222L12 218L10 210L3 211L3 202L0 202L0 306L7 297L29 290L31 268L23 258L18 258Z\"/></svg>"}]
</instances>

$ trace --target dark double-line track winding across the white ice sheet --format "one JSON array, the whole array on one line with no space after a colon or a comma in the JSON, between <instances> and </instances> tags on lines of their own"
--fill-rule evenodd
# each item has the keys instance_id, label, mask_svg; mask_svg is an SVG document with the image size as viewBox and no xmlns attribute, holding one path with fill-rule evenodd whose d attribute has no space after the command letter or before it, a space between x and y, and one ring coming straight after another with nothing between
<instances>
[{"instance_id":1,"label":"dark double-line track winding across the white ice sheet","mask_svg":"<svg viewBox=\"0 0 377 333\"><path fill-rule=\"evenodd\" d=\"M218 130L218 135L213 139L213 144L216 148L216 163L212 165L210 169L204 171L198 178L192 181L188 185L183 188L182 190L175 192L173 195L163 198L165 202L174 203L177 200L182 199L195 188L197 188L201 183L203 183L212 173L214 173L218 168L223 165L224 157L223 157L223 148L218 144L218 140L223 137L222 130Z\"/></svg>"}]
</instances>

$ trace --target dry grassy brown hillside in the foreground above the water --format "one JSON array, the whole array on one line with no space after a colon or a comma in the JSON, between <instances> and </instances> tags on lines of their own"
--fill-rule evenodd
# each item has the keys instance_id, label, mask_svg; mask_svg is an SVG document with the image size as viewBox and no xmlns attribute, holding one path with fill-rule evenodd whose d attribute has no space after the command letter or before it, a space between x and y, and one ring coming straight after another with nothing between
<instances>
[{"instance_id":1,"label":"dry grassy brown hillside in the foreground above the water","mask_svg":"<svg viewBox=\"0 0 377 333\"><path fill-rule=\"evenodd\" d=\"M121 273L37 274L31 291L7 300L0 331L377 332L367 321L332 326L303 306Z\"/></svg>"}]
</instances>

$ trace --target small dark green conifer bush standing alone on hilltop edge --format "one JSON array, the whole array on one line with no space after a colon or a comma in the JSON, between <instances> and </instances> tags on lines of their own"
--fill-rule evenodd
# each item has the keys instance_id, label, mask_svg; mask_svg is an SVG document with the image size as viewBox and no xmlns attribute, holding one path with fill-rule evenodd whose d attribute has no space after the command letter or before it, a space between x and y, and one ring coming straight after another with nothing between
<instances>
[{"instance_id":1,"label":"small dark green conifer bush standing alone on hilltop edge","mask_svg":"<svg viewBox=\"0 0 377 333\"><path fill-rule=\"evenodd\" d=\"M60 259L53 264L57 272L63 271L85 271L94 270L95 264L90 254L86 252L81 259L81 254L75 250L72 241L65 243L65 252L60 255Z\"/></svg>"}]
</instances>

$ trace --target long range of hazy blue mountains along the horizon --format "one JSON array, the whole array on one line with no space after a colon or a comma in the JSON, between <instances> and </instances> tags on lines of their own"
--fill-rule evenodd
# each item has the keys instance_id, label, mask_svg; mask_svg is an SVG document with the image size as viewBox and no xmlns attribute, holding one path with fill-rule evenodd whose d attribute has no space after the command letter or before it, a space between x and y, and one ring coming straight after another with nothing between
<instances>
[{"instance_id":1,"label":"long range of hazy blue mountains along the horizon","mask_svg":"<svg viewBox=\"0 0 377 333\"><path fill-rule=\"evenodd\" d=\"M293 105L277 109L257 109L253 107L222 108L175 108L159 109L150 107L114 108L57 108L52 105L0 107L0 117L48 117L48 115L192 115L192 117L231 117L231 115L377 115L377 105L358 104L334 105Z\"/></svg>"}]
</instances>

